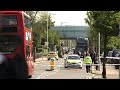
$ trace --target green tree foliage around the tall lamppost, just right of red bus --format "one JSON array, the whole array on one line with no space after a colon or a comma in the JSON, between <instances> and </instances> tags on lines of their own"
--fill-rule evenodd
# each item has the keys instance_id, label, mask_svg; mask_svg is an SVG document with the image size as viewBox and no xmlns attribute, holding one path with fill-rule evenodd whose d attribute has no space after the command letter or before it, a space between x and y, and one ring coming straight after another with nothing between
<instances>
[{"instance_id":1,"label":"green tree foliage around the tall lamppost, just right of red bus","mask_svg":"<svg viewBox=\"0 0 120 90\"><path fill-rule=\"evenodd\" d=\"M34 13L30 13L32 18L35 18ZM47 12L41 12L39 15L39 19L35 19L32 23L33 27L33 42L36 48L40 48L41 45L47 41L47 18L48 18L48 42L50 45L59 44L59 33L50 30L51 26L54 26L54 21L52 21L51 15ZM38 50L41 51L41 50Z\"/></svg>"}]
</instances>

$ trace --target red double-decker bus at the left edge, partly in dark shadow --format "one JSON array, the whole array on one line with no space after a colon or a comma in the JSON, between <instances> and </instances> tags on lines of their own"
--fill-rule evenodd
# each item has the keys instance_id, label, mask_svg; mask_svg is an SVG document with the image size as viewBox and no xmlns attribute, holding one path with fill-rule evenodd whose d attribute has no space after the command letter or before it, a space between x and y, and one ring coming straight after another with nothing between
<instances>
[{"instance_id":1,"label":"red double-decker bus at the left edge, partly in dark shadow","mask_svg":"<svg viewBox=\"0 0 120 90\"><path fill-rule=\"evenodd\" d=\"M31 18L23 11L0 11L0 52L8 61L8 78L33 75Z\"/></svg>"}]
</instances>

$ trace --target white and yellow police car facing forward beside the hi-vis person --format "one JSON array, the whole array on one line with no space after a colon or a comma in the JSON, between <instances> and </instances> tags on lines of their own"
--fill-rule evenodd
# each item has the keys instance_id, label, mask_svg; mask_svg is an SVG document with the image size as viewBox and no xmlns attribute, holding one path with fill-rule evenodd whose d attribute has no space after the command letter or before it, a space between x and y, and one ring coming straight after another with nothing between
<instances>
[{"instance_id":1,"label":"white and yellow police car facing forward beside the hi-vis person","mask_svg":"<svg viewBox=\"0 0 120 90\"><path fill-rule=\"evenodd\" d=\"M65 68L68 68L73 65L78 66L79 68L82 68L82 64L83 64L83 62L82 62L81 58L79 57L79 55L77 55L77 54L68 55L64 61Z\"/></svg>"}]
</instances>

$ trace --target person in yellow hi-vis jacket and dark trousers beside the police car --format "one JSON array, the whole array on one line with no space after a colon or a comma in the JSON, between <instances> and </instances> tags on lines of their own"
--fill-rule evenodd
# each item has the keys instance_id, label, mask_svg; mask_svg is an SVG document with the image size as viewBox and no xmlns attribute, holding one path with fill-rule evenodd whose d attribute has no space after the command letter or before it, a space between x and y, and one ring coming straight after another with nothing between
<instances>
[{"instance_id":1,"label":"person in yellow hi-vis jacket and dark trousers beside the police car","mask_svg":"<svg viewBox=\"0 0 120 90\"><path fill-rule=\"evenodd\" d=\"M84 64L86 64L86 72L90 73L91 72L92 59L91 59L89 53L87 53L86 57L84 58Z\"/></svg>"}]
</instances>

